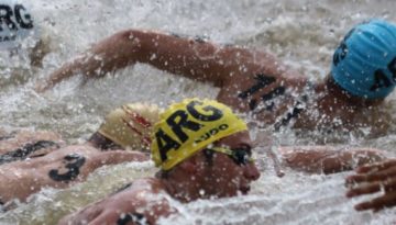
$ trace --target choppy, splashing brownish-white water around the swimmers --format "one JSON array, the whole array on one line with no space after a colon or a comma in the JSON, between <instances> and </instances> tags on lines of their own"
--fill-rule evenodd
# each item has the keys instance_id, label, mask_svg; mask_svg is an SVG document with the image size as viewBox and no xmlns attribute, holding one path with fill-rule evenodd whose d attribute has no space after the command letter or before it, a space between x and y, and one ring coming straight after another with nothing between
<instances>
[{"instance_id":1,"label":"choppy, splashing brownish-white water around the swimmers","mask_svg":"<svg viewBox=\"0 0 396 225\"><path fill-rule=\"evenodd\" d=\"M125 102L167 105L185 97L216 97L218 90L210 86L144 65L84 87L79 87L80 78L74 78L44 94L32 91L33 81L44 79L91 43L117 31L153 29L266 49L290 67L320 79L329 71L334 47L353 24L373 16L396 22L393 0L34 0L30 4L42 36L50 37L52 53L42 68L29 65L26 52L12 58L1 53L0 124L6 128L56 131L70 143L87 137L109 110ZM391 112L396 112L395 95L388 99ZM396 128L394 121L389 123L393 128L385 136L367 139L350 135L343 143L394 155ZM293 131L276 136L292 145L311 144L317 138L316 134L299 137ZM152 170L150 164L133 162L102 168L79 185L62 191L46 189L33 195L31 203L0 214L0 224L54 224L62 215ZM395 223L395 210L355 212L353 204L360 200L344 198L346 175L308 176L287 170L279 179L267 166L252 195L177 205L182 214L173 220L176 224ZM175 224L170 220L162 223Z\"/></svg>"}]
</instances>

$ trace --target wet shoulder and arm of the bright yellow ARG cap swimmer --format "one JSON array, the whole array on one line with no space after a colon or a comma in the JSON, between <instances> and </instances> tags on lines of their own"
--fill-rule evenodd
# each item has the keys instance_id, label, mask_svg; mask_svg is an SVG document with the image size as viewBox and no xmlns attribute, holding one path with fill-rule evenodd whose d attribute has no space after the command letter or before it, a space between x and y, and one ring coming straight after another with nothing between
<instances>
[{"instance_id":1,"label":"wet shoulder and arm of the bright yellow ARG cap swimmer","mask_svg":"<svg viewBox=\"0 0 396 225\"><path fill-rule=\"evenodd\" d=\"M147 188L150 189L150 187ZM142 191L136 185L129 185L79 212L65 216L58 225L75 224L81 221L91 225L156 224L160 217L167 217L176 212L167 200L157 196L157 192L153 192L152 189Z\"/></svg>"}]
</instances>

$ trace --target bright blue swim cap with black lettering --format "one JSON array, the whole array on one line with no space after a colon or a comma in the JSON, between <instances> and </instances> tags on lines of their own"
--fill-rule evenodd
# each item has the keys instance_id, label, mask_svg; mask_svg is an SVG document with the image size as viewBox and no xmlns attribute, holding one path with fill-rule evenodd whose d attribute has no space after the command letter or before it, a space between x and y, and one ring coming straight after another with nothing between
<instances>
[{"instance_id":1,"label":"bright blue swim cap with black lettering","mask_svg":"<svg viewBox=\"0 0 396 225\"><path fill-rule=\"evenodd\" d=\"M353 95L387 97L396 85L396 26L377 19L356 25L336 49L331 74Z\"/></svg>"}]
</instances>

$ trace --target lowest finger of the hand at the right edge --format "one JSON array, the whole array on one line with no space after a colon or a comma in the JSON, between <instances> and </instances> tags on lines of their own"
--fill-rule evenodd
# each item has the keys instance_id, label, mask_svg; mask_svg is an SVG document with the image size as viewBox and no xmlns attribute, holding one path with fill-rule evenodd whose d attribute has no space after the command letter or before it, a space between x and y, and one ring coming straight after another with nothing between
<instances>
[{"instance_id":1,"label":"lowest finger of the hand at the right edge","mask_svg":"<svg viewBox=\"0 0 396 225\"><path fill-rule=\"evenodd\" d=\"M356 211L373 210L377 212L384 207L396 205L396 192L386 193L383 196L375 198L367 202L359 203L354 206Z\"/></svg>"}]
</instances>

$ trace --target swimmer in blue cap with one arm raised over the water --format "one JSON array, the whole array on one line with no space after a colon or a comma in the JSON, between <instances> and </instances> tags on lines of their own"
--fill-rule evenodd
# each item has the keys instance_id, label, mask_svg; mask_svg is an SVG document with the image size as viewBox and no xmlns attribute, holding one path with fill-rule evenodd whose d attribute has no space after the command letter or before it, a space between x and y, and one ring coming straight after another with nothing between
<instances>
[{"instance_id":1,"label":"swimmer in blue cap with one arm raised over the water","mask_svg":"<svg viewBox=\"0 0 396 225\"><path fill-rule=\"evenodd\" d=\"M396 26L370 20L354 26L333 54L319 82L286 68L273 55L201 38L128 30L95 44L54 71L44 91L76 74L101 77L136 63L220 88L217 100L274 131L285 126L386 131L392 119L381 105L396 83ZM375 124L375 125L374 125Z\"/></svg>"}]
</instances>

